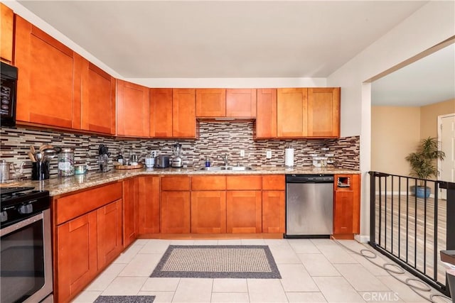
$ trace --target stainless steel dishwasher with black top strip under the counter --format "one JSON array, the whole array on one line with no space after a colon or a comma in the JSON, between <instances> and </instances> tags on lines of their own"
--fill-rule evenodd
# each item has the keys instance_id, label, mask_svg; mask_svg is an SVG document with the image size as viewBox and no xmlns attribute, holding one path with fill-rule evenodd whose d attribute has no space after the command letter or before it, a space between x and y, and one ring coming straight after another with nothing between
<instances>
[{"instance_id":1,"label":"stainless steel dishwasher with black top strip under the counter","mask_svg":"<svg viewBox=\"0 0 455 303\"><path fill-rule=\"evenodd\" d=\"M333 175L286 175L285 238L333 233Z\"/></svg>"}]
</instances>

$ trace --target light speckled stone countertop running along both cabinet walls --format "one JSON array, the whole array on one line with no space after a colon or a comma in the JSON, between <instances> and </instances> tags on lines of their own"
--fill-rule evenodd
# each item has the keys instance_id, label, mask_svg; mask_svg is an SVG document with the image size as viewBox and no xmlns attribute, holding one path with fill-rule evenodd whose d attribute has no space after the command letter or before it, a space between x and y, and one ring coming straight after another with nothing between
<instances>
[{"instance_id":1,"label":"light speckled stone countertop running along both cabinet walls","mask_svg":"<svg viewBox=\"0 0 455 303\"><path fill-rule=\"evenodd\" d=\"M200 167L183 168L149 168L137 170L110 170L109 172L87 172L85 175L74 175L70 177L51 177L48 180L32 181L26 180L14 186L30 186L36 189L48 190L50 196L67 194L80 189L87 189L109 182L118 182L129 177L139 175L272 175L272 174L300 174L300 175L335 175L335 174L360 174L358 170L346 170L335 167L253 167L254 170L200 170Z\"/></svg>"}]
</instances>

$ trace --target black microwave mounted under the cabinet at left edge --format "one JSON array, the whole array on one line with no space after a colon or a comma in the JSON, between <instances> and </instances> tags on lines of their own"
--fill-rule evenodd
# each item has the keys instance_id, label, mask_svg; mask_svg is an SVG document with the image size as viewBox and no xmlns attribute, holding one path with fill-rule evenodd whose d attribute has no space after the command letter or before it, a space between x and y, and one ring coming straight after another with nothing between
<instances>
[{"instance_id":1,"label":"black microwave mounted under the cabinet at left edge","mask_svg":"<svg viewBox=\"0 0 455 303\"><path fill-rule=\"evenodd\" d=\"M16 126L17 67L0 62L0 126Z\"/></svg>"}]
</instances>

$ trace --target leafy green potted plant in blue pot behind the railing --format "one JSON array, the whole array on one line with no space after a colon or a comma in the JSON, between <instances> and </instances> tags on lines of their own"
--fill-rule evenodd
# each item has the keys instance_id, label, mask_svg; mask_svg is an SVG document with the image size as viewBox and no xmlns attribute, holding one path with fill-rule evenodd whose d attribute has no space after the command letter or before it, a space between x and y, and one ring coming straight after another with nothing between
<instances>
[{"instance_id":1,"label":"leafy green potted plant in blue pot behind the railing","mask_svg":"<svg viewBox=\"0 0 455 303\"><path fill-rule=\"evenodd\" d=\"M435 160L444 160L445 156L444 152L439 150L437 138L433 137L422 139L417 146L417 151L407 155L406 160L410 162L411 165L410 175L421 179L414 189L414 193L417 197L429 197L431 189L429 187L424 187L424 180L427 180L432 175L434 175L434 177L439 175Z\"/></svg>"}]
</instances>

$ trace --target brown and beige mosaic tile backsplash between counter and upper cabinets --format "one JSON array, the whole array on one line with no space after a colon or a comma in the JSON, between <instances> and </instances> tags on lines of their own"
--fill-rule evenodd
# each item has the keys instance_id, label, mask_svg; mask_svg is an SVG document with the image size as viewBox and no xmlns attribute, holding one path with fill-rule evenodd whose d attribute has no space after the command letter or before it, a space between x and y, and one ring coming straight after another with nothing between
<instances>
[{"instance_id":1,"label":"brown and beige mosaic tile backsplash between counter and upper cabinets","mask_svg":"<svg viewBox=\"0 0 455 303\"><path fill-rule=\"evenodd\" d=\"M339 139L318 140L253 140L254 125L252 122L235 123L199 123L200 137L197 140L124 140L110 136L87 135L78 133L63 133L58 131L31 130L26 128L4 128L0 130L0 158L14 162L16 167L26 161L23 175L31 177L31 162L27 153L30 145L38 148L41 144L51 144L60 148L73 148L75 162L87 164L89 170L97 170L97 154L100 144L109 148L111 153L109 167L114 168L114 160L119 150L124 155L133 153L142 159L157 150L159 155L172 156L173 144L179 142L183 146L183 164L202 167L205 159L210 158L212 165L222 165L219 155L229 155L232 165L284 165L284 148L294 148L294 165L311 165L310 154L333 153L335 165L338 167L359 170L360 137L353 136ZM329 151L321 151L328 148ZM240 150L245 150L245 156L240 157ZM266 158L267 150L272 151L272 158ZM51 177L58 174L58 160L50 161Z\"/></svg>"}]
</instances>

